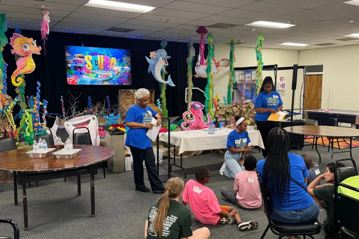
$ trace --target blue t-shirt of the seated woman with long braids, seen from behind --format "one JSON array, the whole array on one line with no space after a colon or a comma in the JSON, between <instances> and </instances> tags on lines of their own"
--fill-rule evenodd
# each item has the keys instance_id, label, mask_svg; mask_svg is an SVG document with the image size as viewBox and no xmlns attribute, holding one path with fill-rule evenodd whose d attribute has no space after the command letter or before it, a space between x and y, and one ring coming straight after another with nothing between
<instances>
[{"instance_id":1,"label":"blue t-shirt of the seated woman with long braids, seen from behind","mask_svg":"<svg viewBox=\"0 0 359 239\"><path fill-rule=\"evenodd\" d=\"M290 164L290 176L295 181L300 183L303 187L307 188L307 184L304 181L304 178L307 178L309 176L309 173L302 156L288 153L288 157ZM261 180L263 180L263 166L265 161L265 159L262 159L257 162L257 171L261 176ZM304 191L304 189L297 185L295 182L293 182L293 180L289 181L289 201L285 200L283 202L283 206L279 207L278 201L276 200L276 197L274 195L272 196L273 206L280 210L298 210L311 206L313 204L313 199L309 195L309 193Z\"/></svg>"}]
</instances>

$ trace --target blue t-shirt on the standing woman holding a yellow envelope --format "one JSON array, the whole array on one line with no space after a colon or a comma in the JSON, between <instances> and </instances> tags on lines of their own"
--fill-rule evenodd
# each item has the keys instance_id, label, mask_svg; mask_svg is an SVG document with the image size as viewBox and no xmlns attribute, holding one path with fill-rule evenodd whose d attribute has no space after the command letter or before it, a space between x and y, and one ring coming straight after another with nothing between
<instances>
[{"instance_id":1,"label":"blue t-shirt on the standing woman holding a yellow envelope","mask_svg":"<svg viewBox=\"0 0 359 239\"><path fill-rule=\"evenodd\" d=\"M282 99L277 91L272 90L271 94L267 94L265 91L262 91L258 94L254 107L261 108L272 108L274 110L278 109L279 106L283 105ZM267 121L270 116L270 112L259 113L256 112L254 119L257 121Z\"/></svg>"}]
</instances>

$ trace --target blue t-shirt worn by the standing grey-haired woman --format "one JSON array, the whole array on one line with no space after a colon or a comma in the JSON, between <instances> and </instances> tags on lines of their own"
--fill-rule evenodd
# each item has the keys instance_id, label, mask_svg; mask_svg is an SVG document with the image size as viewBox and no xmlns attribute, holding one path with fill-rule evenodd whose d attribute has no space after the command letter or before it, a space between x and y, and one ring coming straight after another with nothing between
<instances>
[{"instance_id":1,"label":"blue t-shirt worn by the standing grey-haired woman","mask_svg":"<svg viewBox=\"0 0 359 239\"><path fill-rule=\"evenodd\" d=\"M136 123L151 123L152 118L158 114L151 107L147 106L145 109L142 109L140 106L132 105L126 113L126 122L136 122ZM126 146L133 146L140 149L146 149L152 147L151 140L146 136L148 129L139 128L139 129L129 129L126 135Z\"/></svg>"}]
</instances>

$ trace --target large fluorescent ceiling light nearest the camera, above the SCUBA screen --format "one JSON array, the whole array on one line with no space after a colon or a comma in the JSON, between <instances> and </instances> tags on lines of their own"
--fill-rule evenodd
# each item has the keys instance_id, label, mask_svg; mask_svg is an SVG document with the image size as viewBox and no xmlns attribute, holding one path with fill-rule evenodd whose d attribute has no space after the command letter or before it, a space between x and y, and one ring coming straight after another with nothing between
<instances>
[{"instance_id":1,"label":"large fluorescent ceiling light nearest the camera, above the SCUBA screen","mask_svg":"<svg viewBox=\"0 0 359 239\"><path fill-rule=\"evenodd\" d=\"M107 0L90 0L84 6L90 6L95 8L106 8L112 10L121 10L121 11L132 11L135 13L145 13L154 7L144 6L144 5L137 5L137 4L130 4L130 3L120 3L116 1L107 1Z\"/></svg>"}]
</instances>

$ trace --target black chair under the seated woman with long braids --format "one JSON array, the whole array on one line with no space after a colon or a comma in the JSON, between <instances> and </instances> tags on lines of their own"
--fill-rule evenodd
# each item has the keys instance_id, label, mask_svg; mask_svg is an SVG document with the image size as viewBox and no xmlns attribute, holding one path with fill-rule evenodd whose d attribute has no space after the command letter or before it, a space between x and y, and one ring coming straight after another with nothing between
<instances>
[{"instance_id":1,"label":"black chair under the seated woman with long braids","mask_svg":"<svg viewBox=\"0 0 359 239\"><path fill-rule=\"evenodd\" d=\"M264 204L264 209L266 211L268 226L264 230L261 239L264 239L264 236L267 234L269 228L272 233L278 235L278 239L281 239L285 236L295 235L303 236L303 239L306 239L306 236L314 239L313 235L320 233L321 226L317 220L309 221L306 223L282 223L280 221L275 221L270 218L271 214L271 197L268 190L265 190L263 183L261 182L261 177L257 171L257 177L259 186L261 188L262 199Z\"/></svg>"}]
</instances>

